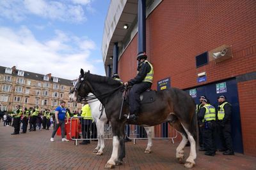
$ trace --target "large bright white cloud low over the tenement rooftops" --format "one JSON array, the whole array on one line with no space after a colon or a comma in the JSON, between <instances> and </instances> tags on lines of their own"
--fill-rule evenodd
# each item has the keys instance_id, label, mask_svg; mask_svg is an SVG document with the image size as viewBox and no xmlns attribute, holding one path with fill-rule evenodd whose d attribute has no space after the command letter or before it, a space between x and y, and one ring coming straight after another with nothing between
<instances>
[{"instance_id":1,"label":"large bright white cloud low over the tenement rooftops","mask_svg":"<svg viewBox=\"0 0 256 170\"><path fill-rule=\"evenodd\" d=\"M70 45L73 42L75 46ZM0 65L74 80L81 68L100 74L89 60L95 43L56 31L56 36L41 43L27 27L17 30L0 27ZM67 48L67 49L66 49ZM97 59L94 59L94 61Z\"/></svg>"}]
</instances>

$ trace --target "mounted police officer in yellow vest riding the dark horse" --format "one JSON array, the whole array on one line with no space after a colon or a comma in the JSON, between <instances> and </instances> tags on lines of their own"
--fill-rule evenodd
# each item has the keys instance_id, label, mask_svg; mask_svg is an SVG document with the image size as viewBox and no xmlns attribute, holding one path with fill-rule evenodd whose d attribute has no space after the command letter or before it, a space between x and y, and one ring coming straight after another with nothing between
<instances>
[{"instance_id":1,"label":"mounted police officer in yellow vest riding the dark horse","mask_svg":"<svg viewBox=\"0 0 256 170\"><path fill-rule=\"evenodd\" d=\"M148 62L146 53L139 53L137 60L139 62L137 76L125 83L125 85L132 85L129 92L130 113L127 119L133 121L138 118L140 112L140 94L151 87L154 74L153 66Z\"/></svg>"}]
</instances>

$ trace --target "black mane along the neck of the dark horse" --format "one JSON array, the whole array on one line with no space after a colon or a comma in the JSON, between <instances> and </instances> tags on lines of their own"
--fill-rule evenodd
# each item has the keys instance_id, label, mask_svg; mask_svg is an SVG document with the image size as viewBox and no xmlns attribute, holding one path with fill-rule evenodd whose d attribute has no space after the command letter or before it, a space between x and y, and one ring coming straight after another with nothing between
<instances>
[{"instance_id":1,"label":"black mane along the neck of the dark horse","mask_svg":"<svg viewBox=\"0 0 256 170\"><path fill-rule=\"evenodd\" d=\"M113 80L113 78L110 78L107 76L99 76L91 73L85 73L85 74L86 74L86 79L94 82L107 83L108 85L115 85L115 86L121 85L120 81Z\"/></svg>"}]
</instances>

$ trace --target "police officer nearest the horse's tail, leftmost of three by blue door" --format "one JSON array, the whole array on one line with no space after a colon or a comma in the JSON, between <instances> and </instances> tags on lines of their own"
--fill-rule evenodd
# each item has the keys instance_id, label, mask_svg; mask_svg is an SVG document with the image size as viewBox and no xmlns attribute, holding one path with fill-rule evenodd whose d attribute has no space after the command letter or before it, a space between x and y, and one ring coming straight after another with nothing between
<instances>
[{"instance_id":1,"label":"police officer nearest the horse's tail, leftmost of three by blue door","mask_svg":"<svg viewBox=\"0 0 256 170\"><path fill-rule=\"evenodd\" d=\"M206 99L205 96L200 96L199 97L199 101L200 101L200 104L196 104L196 113L198 115L198 112L200 111L200 109L204 106L204 104L202 104L203 100ZM204 138L203 138L203 134L204 134L204 123L201 121L201 124L200 124L200 120L198 119L198 134L199 134L199 150L200 151L205 151L205 148L204 148Z\"/></svg>"}]
</instances>

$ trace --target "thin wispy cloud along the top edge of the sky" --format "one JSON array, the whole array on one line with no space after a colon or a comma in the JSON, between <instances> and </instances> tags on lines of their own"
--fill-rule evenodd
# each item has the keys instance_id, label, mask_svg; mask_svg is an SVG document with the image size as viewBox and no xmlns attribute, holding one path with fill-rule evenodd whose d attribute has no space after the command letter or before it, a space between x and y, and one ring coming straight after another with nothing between
<instances>
[{"instance_id":1,"label":"thin wispy cloud along the top edge of the sky","mask_svg":"<svg viewBox=\"0 0 256 170\"><path fill-rule=\"evenodd\" d=\"M0 17L19 22L29 14L51 20L80 23L86 21L83 5L90 5L90 0L46 1L46 0L1 0ZM87 9L87 8L86 8Z\"/></svg>"}]
</instances>

